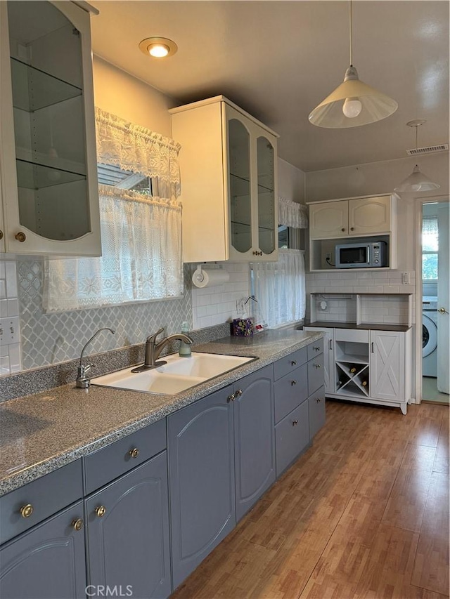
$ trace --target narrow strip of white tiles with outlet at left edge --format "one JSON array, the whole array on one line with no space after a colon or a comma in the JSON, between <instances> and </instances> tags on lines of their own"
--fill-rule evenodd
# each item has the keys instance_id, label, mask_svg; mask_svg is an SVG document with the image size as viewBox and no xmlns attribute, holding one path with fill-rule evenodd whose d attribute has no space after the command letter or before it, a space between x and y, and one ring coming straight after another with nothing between
<instances>
[{"instance_id":1,"label":"narrow strip of white tiles with outlet at left edge","mask_svg":"<svg viewBox=\"0 0 450 599\"><path fill-rule=\"evenodd\" d=\"M22 369L15 262L0 261L0 376Z\"/></svg>"}]
</instances>

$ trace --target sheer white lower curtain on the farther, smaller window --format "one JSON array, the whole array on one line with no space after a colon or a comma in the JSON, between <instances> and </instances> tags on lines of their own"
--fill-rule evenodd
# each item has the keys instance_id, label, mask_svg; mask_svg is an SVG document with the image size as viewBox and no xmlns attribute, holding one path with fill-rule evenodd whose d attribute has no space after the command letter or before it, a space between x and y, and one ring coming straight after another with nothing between
<instances>
[{"instance_id":1,"label":"sheer white lower curtain on the farther, smaller window","mask_svg":"<svg viewBox=\"0 0 450 599\"><path fill-rule=\"evenodd\" d=\"M305 313L304 251L281 249L278 262L253 263L258 308L270 328L302 320Z\"/></svg>"}]
</instances>

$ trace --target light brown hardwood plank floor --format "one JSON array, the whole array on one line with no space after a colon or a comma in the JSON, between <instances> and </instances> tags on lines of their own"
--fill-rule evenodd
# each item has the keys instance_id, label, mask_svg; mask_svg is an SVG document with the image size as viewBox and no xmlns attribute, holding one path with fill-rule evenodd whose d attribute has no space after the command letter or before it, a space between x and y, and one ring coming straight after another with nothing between
<instances>
[{"instance_id":1,"label":"light brown hardwood plank floor","mask_svg":"<svg viewBox=\"0 0 450 599\"><path fill-rule=\"evenodd\" d=\"M173 599L449 596L449 408L326 410L313 446Z\"/></svg>"}]
</instances>

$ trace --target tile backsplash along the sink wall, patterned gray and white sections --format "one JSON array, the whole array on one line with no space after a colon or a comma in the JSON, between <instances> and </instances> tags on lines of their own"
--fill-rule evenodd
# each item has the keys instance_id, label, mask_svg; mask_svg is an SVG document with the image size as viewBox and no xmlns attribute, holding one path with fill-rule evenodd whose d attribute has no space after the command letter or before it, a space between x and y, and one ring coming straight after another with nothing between
<instances>
[{"instance_id":1,"label":"tile backsplash along the sink wall, patterned gray and white sections","mask_svg":"<svg viewBox=\"0 0 450 599\"><path fill-rule=\"evenodd\" d=\"M0 376L73 360L99 327L111 327L116 334L96 338L89 353L143 343L160 327L165 327L167 334L178 332L183 321L191 329L223 324L236 317L236 301L249 294L247 264L221 266L229 272L229 282L206 289L193 287L196 265L187 264L182 298L46 314L42 309L43 266L41 258L0 261L0 322L4 331ZM219 265L208 264L208 268ZM6 333L10 338L6 339Z\"/></svg>"}]
</instances>

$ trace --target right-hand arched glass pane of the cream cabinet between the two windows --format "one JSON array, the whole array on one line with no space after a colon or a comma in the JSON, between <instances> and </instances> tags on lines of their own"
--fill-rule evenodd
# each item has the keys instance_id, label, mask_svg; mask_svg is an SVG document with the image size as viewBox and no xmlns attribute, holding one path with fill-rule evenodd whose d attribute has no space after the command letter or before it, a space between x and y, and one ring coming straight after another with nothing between
<instances>
[{"instance_id":1,"label":"right-hand arched glass pane of the cream cabinet between the two windows","mask_svg":"<svg viewBox=\"0 0 450 599\"><path fill-rule=\"evenodd\" d=\"M275 150L264 136L257 138L258 247L268 256L276 250L278 213L275 197Z\"/></svg>"}]
</instances>

